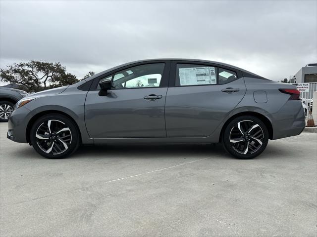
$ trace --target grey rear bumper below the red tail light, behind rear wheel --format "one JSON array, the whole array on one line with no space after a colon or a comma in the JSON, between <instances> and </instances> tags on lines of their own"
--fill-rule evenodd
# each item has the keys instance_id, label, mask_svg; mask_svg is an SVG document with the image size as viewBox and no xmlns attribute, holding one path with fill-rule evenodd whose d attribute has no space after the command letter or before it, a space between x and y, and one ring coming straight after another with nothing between
<instances>
[{"instance_id":1,"label":"grey rear bumper below the red tail light, behind rear wheel","mask_svg":"<svg viewBox=\"0 0 317 237\"><path fill-rule=\"evenodd\" d=\"M305 128L305 114L299 100L289 100L273 117L273 140L297 136Z\"/></svg>"}]
</instances>

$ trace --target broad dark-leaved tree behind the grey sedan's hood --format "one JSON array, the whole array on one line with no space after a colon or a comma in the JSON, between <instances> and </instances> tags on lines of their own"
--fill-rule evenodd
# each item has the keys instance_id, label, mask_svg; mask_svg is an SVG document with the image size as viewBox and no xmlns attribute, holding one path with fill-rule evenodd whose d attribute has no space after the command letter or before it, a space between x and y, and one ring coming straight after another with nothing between
<instances>
[{"instance_id":1,"label":"broad dark-leaved tree behind the grey sedan's hood","mask_svg":"<svg viewBox=\"0 0 317 237\"><path fill-rule=\"evenodd\" d=\"M0 79L15 83L27 90L36 92L53 87L70 85L79 81L76 76L66 73L66 68L58 63L30 61L0 69Z\"/></svg>"}]
</instances>

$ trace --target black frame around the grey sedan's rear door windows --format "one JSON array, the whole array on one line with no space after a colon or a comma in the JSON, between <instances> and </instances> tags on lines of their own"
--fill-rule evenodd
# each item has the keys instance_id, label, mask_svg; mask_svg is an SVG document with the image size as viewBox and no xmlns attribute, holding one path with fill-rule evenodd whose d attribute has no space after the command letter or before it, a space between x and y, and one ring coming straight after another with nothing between
<instances>
[{"instance_id":1,"label":"black frame around the grey sedan's rear door windows","mask_svg":"<svg viewBox=\"0 0 317 237\"><path fill-rule=\"evenodd\" d=\"M177 73L177 64L190 64L190 65L199 65L199 66L207 66L207 67L215 67L217 68L217 75L216 75L216 81L217 83L216 84L198 84L198 85L180 85L180 86L176 86L176 73ZM168 87L188 87L188 86L215 86L215 85L225 85L227 83L230 83L232 81L235 81L235 80L232 80L230 82L227 82L227 83L223 83L223 84L219 84L219 81L218 81L218 78L219 78L219 68L222 68L222 69L226 69L226 70L230 70L232 72L235 72L237 74L237 79L240 79L240 78L243 78L243 75L242 75L242 72L240 70L236 70L234 68L230 68L230 67L227 67L225 65L221 65L221 64L215 64L215 63L208 63L208 62L200 62L200 61L182 61L182 60L173 60L171 62L171 70L170 70L170 74L169 74L169 83L168 83Z\"/></svg>"}]
</instances>

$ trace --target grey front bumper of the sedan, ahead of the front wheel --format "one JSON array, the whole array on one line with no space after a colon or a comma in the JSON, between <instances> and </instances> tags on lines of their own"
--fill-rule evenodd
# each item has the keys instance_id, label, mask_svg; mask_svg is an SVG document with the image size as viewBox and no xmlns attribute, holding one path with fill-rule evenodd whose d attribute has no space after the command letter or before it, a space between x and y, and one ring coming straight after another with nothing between
<instances>
[{"instance_id":1,"label":"grey front bumper of the sedan, ahead of the front wheel","mask_svg":"<svg viewBox=\"0 0 317 237\"><path fill-rule=\"evenodd\" d=\"M8 120L6 137L14 142L27 143L26 129L31 118L31 111L25 107L14 110Z\"/></svg>"}]
</instances>

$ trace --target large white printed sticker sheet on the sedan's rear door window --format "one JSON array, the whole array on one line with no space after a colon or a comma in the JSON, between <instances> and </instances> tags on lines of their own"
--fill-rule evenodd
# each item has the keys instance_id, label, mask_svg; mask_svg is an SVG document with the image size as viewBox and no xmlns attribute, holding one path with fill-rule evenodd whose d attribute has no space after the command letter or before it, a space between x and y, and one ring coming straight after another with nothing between
<instances>
[{"instance_id":1,"label":"large white printed sticker sheet on the sedan's rear door window","mask_svg":"<svg viewBox=\"0 0 317 237\"><path fill-rule=\"evenodd\" d=\"M180 68L180 85L216 84L214 67Z\"/></svg>"}]
</instances>

